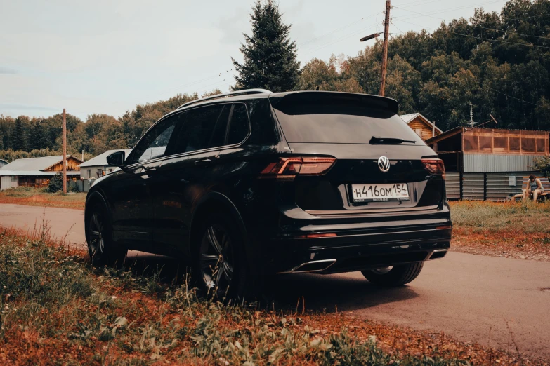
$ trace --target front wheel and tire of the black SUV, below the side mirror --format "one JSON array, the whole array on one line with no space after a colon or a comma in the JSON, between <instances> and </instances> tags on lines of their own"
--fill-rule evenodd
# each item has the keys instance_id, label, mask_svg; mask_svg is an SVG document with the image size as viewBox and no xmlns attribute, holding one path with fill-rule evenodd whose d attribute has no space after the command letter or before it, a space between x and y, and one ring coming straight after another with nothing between
<instances>
[{"instance_id":1,"label":"front wheel and tire of the black SUV, below the side mirror","mask_svg":"<svg viewBox=\"0 0 550 366\"><path fill-rule=\"evenodd\" d=\"M93 266L123 266L128 250L112 240L112 229L107 210L93 205L86 215L86 242Z\"/></svg>"}]
</instances>

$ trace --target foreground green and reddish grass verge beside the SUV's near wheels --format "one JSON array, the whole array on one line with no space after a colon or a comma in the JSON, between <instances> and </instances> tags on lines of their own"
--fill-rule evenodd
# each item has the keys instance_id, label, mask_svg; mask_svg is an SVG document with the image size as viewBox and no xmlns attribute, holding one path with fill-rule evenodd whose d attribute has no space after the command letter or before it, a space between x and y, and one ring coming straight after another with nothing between
<instances>
[{"instance_id":1,"label":"foreground green and reddish grass verge beside the SUV's near wheels","mask_svg":"<svg viewBox=\"0 0 550 366\"><path fill-rule=\"evenodd\" d=\"M445 334L343 313L199 299L185 281L159 282L162 271L93 269L47 232L0 228L0 364L518 364Z\"/></svg>"}]
</instances>

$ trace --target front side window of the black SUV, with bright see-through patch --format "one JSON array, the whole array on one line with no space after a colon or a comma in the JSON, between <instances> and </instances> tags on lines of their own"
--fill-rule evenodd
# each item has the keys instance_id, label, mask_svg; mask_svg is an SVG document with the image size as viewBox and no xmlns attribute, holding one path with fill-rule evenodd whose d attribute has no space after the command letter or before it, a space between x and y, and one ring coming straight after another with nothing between
<instances>
[{"instance_id":1,"label":"front side window of the black SUV, with bright see-through patch","mask_svg":"<svg viewBox=\"0 0 550 366\"><path fill-rule=\"evenodd\" d=\"M129 165L164 156L168 142L178 123L179 114L161 121L134 148Z\"/></svg>"}]
</instances>

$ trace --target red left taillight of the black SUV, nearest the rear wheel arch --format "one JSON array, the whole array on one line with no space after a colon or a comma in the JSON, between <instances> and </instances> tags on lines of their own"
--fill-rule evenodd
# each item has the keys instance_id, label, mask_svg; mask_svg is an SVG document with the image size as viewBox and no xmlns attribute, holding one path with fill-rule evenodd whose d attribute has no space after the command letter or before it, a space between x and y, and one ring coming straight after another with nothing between
<instances>
[{"instance_id":1,"label":"red left taillight of the black SUV, nearest the rear wheel arch","mask_svg":"<svg viewBox=\"0 0 550 366\"><path fill-rule=\"evenodd\" d=\"M322 175L332 168L335 158L293 157L280 158L270 163L261 175L265 177L289 177L294 175Z\"/></svg>"}]
</instances>

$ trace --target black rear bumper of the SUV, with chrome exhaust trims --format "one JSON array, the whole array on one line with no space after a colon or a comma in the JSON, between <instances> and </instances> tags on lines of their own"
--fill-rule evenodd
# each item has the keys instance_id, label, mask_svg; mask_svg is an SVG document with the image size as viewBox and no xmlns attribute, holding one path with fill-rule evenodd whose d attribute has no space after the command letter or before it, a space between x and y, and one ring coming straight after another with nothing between
<instances>
[{"instance_id":1,"label":"black rear bumper of the SUV, with chrome exhaust trims","mask_svg":"<svg viewBox=\"0 0 550 366\"><path fill-rule=\"evenodd\" d=\"M444 257L452 235L448 208L423 216L308 220L292 232L262 240L261 263L271 273L341 273ZM336 236L301 237L309 234Z\"/></svg>"}]
</instances>

